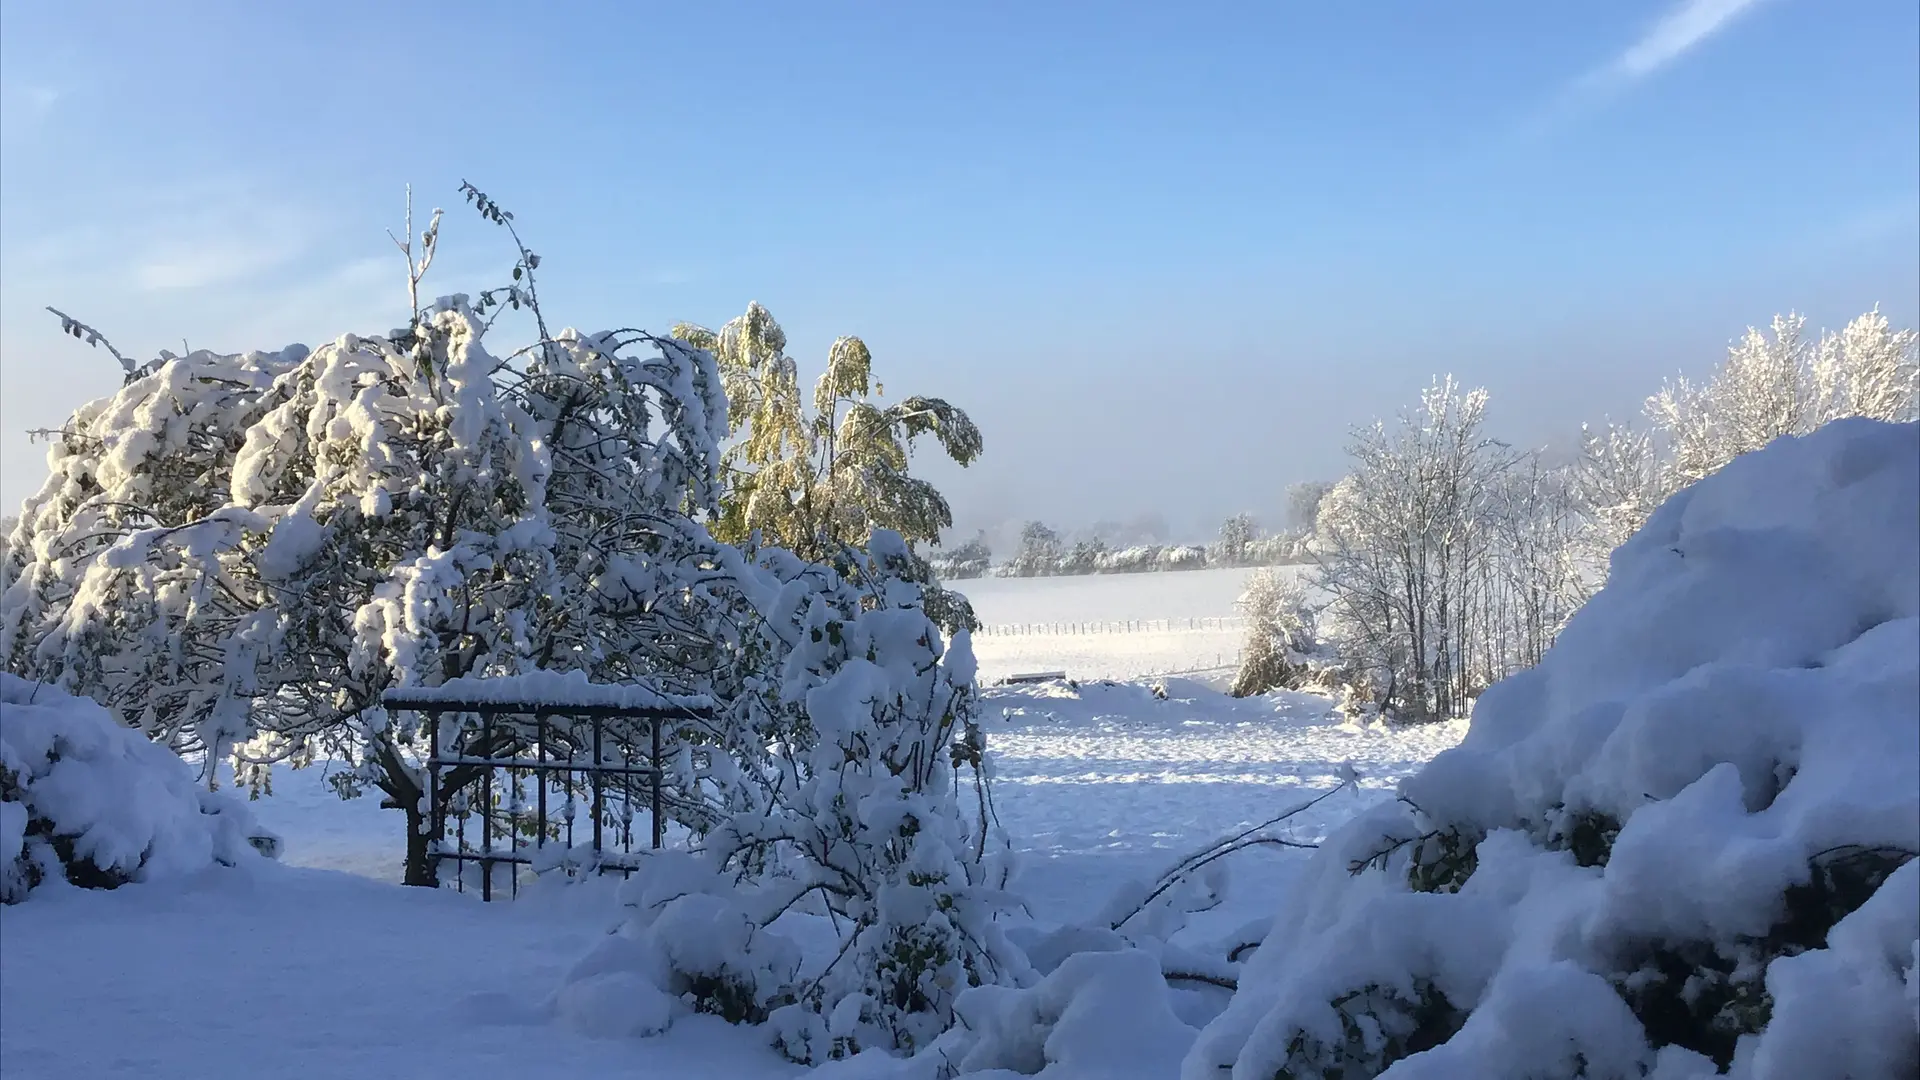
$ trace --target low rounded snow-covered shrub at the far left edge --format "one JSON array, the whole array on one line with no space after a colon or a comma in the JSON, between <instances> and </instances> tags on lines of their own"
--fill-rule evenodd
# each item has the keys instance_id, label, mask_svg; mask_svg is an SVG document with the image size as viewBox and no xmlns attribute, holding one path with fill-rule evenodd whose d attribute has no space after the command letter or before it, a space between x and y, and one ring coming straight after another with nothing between
<instances>
[{"instance_id":1,"label":"low rounded snow-covered shrub at the far left edge","mask_svg":"<svg viewBox=\"0 0 1920 1080\"><path fill-rule=\"evenodd\" d=\"M98 703L0 673L0 899L117 888L278 847L246 805Z\"/></svg>"}]
</instances>

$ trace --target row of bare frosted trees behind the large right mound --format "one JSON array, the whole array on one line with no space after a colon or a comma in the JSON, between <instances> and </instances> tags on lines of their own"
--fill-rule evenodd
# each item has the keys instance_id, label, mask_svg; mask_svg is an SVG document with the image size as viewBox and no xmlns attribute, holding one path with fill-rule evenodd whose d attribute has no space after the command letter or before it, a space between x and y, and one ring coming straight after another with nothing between
<instances>
[{"instance_id":1,"label":"row of bare frosted trees behind the large right mound","mask_svg":"<svg viewBox=\"0 0 1920 1080\"><path fill-rule=\"evenodd\" d=\"M1465 715L1540 661L1607 555L1672 492L1740 454L1839 417L1916 417L1916 334L1878 309L1818 340L1805 319L1749 331L1703 382L1668 382L1649 427L1584 430L1549 463L1484 430L1486 392L1434 382L1354 434L1319 505L1319 626L1338 669L1402 719Z\"/></svg>"}]
</instances>

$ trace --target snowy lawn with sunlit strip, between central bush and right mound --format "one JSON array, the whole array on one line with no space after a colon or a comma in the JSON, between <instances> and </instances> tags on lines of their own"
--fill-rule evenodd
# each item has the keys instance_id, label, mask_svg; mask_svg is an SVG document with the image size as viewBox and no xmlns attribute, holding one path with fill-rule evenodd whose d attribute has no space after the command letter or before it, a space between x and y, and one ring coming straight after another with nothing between
<instances>
[{"instance_id":1,"label":"snowy lawn with sunlit strip, between central bush and right mound","mask_svg":"<svg viewBox=\"0 0 1920 1080\"><path fill-rule=\"evenodd\" d=\"M1340 784L1354 794L1290 822L1317 842L1394 786L1467 724L1386 730L1344 724L1325 698L1233 700L1200 682L1167 680L1167 700L1142 684L1087 682L1000 688L987 696L995 799L1020 855L1014 888L1044 922L1094 915L1116 888L1146 880L1181 855ZM996 713L1010 713L996 719ZM1298 851L1235 857L1229 903L1202 924L1265 915ZM1219 926L1227 930L1231 926Z\"/></svg>"}]
</instances>

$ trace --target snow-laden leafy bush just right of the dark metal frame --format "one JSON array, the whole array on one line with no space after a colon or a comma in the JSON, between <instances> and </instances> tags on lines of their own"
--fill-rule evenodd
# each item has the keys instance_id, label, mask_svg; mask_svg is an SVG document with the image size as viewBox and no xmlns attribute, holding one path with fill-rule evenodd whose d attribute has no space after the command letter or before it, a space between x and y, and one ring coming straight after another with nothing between
<instances>
[{"instance_id":1,"label":"snow-laden leafy bush just right of the dark metal frame","mask_svg":"<svg viewBox=\"0 0 1920 1080\"><path fill-rule=\"evenodd\" d=\"M785 552L758 563L716 555L760 619L762 665L732 698L774 748L749 771L760 798L693 851L634 874L622 928L637 942L624 953L634 963L609 982L595 961L582 978L624 988L643 976L697 1011L768 1020L797 1061L920 1049L952 1022L962 990L1025 978L995 924L1010 903L1008 867L968 638L943 640L912 553L891 532L837 567ZM960 773L973 776L972 821L956 799ZM803 972L776 920L808 905L829 915L839 947ZM689 920L732 944L687 957L676 942ZM555 1003L563 1015L607 1009L572 982Z\"/></svg>"}]
</instances>

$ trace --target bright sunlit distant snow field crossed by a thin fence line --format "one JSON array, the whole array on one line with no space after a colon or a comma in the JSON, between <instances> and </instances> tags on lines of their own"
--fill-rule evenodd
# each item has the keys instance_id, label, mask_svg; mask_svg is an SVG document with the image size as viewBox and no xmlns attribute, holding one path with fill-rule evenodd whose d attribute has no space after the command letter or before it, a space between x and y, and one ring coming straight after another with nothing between
<instances>
[{"instance_id":1,"label":"bright sunlit distant snow field crossed by a thin fence line","mask_svg":"<svg viewBox=\"0 0 1920 1080\"><path fill-rule=\"evenodd\" d=\"M991 628L1091 623L1229 619L1250 569L1085 575L1054 578L970 578L952 582ZM1283 567L1281 573L1300 573ZM1096 634L979 634L973 653L981 680L1027 671L1066 671L1073 678L1133 678L1164 673L1223 673L1240 653L1238 628L1150 628ZM1219 680L1219 678L1215 678Z\"/></svg>"}]
</instances>

